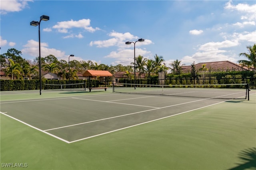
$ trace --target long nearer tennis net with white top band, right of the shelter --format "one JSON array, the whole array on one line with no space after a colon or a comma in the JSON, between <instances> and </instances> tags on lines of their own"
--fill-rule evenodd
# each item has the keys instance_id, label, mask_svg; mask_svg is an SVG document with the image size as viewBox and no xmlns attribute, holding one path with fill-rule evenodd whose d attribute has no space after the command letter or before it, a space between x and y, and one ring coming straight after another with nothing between
<instances>
[{"instance_id":1,"label":"long nearer tennis net with white top band, right of the shelter","mask_svg":"<svg viewBox=\"0 0 256 170\"><path fill-rule=\"evenodd\" d=\"M184 96L196 98L247 99L248 84L201 84L201 85L149 85L115 83L114 92L150 94L165 96Z\"/></svg>"}]
</instances>

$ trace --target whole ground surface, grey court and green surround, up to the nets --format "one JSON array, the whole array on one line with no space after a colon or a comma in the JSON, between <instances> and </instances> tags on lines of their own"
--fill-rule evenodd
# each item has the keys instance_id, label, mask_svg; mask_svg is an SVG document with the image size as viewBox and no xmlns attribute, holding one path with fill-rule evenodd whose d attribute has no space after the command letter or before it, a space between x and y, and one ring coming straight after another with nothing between
<instances>
[{"instance_id":1,"label":"whole ground surface, grey court and green surround, up to the nets","mask_svg":"<svg viewBox=\"0 0 256 170\"><path fill-rule=\"evenodd\" d=\"M0 95L1 169L256 169L256 90L249 101L111 88Z\"/></svg>"}]
</instances>

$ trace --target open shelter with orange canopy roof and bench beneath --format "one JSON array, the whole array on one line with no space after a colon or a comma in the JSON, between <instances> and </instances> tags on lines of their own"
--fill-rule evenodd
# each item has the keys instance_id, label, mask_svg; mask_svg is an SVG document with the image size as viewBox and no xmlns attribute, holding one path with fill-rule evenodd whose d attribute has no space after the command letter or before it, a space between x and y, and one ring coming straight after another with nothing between
<instances>
[{"instance_id":1,"label":"open shelter with orange canopy roof and bench beneath","mask_svg":"<svg viewBox=\"0 0 256 170\"><path fill-rule=\"evenodd\" d=\"M110 77L112 76L112 74L109 71L106 70L86 70L86 72L84 72L83 74L84 77L89 77L89 90L91 92L92 89L105 89L105 91L107 90L106 87L106 77ZM92 77L105 77L105 87L91 87L90 84L90 78Z\"/></svg>"}]
</instances>

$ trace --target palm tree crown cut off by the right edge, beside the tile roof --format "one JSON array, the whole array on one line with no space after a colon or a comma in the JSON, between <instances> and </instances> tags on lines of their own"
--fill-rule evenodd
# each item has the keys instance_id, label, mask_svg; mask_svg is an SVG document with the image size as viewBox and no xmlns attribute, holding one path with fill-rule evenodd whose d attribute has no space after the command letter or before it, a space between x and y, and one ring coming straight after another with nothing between
<instances>
[{"instance_id":1,"label":"palm tree crown cut off by the right edge, beside the tile roof","mask_svg":"<svg viewBox=\"0 0 256 170\"><path fill-rule=\"evenodd\" d=\"M256 44L253 46L247 46L248 53L240 53L239 56L243 56L248 60L238 60L243 66L248 68L253 67L254 74L256 73Z\"/></svg>"}]
</instances>

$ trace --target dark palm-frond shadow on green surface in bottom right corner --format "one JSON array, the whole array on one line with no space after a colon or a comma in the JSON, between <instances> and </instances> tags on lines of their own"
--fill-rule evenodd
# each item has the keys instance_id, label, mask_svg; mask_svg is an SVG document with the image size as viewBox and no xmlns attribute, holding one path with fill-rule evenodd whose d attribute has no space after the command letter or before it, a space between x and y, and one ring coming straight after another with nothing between
<instances>
[{"instance_id":1,"label":"dark palm-frond shadow on green surface in bottom right corner","mask_svg":"<svg viewBox=\"0 0 256 170\"><path fill-rule=\"evenodd\" d=\"M249 168L256 168L256 148L248 148L242 150L238 154L238 158L244 163L238 164L236 167L231 168L229 170L244 170Z\"/></svg>"}]
</instances>

